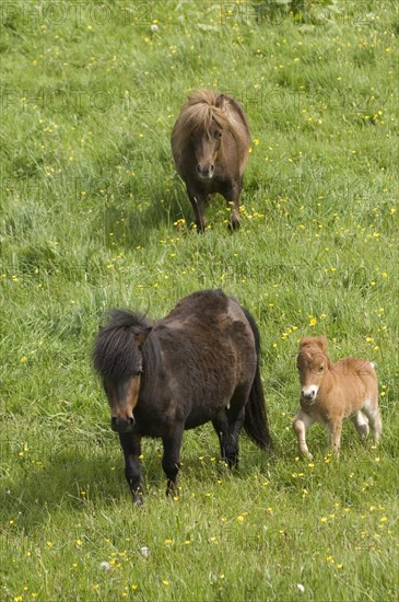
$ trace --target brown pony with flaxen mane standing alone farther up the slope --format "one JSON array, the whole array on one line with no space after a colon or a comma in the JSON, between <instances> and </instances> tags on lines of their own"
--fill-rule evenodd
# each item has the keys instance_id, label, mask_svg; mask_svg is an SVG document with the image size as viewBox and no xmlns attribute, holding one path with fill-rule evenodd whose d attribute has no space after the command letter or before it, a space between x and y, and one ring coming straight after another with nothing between
<instances>
[{"instance_id":1,"label":"brown pony with flaxen mane standing alone farther up the slope","mask_svg":"<svg viewBox=\"0 0 399 602\"><path fill-rule=\"evenodd\" d=\"M239 196L248 151L249 126L237 101L209 90L188 97L173 128L172 152L199 232L207 225L206 205L214 193L227 201L231 228L239 227Z\"/></svg>"}]
</instances>

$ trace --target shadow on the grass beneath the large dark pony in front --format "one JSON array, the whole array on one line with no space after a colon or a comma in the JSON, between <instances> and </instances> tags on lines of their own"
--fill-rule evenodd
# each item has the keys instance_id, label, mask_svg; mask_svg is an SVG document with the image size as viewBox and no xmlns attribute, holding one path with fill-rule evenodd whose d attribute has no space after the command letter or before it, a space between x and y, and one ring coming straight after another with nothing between
<instances>
[{"instance_id":1,"label":"shadow on the grass beneath the large dark pony in front","mask_svg":"<svg viewBox=\"0 0 399 602\"><path fill-rule=\"evenodd\" d=\"M188 484L207 487L222 478L227 486L230 479L242 481L251 471L266 471L273 462L271 453L262 453L256 448L240 454L238 468L228 471L220 462L218 442L201 444L196 437L186 442L181 450L179 482L188 490ZM59 442L58 442L59 443ZM198 448L198 443L200 447ZM59 512L95 512L96 507L113 508L130 503L129 488L124 474L124 459L118 442L107 449L96 448L87 442L86 448L66 444L68 451L59 450L44 461L26 460L13 463L12 479L3 478L0 490L0 507L5 522L14 521L13 528L28 532L44 524L48 518ZM243 445L244 447L244 445ZM250 445L253 448L253 445ZM214 455L211 455L213 454ZM202 455L203 454L203 455ZM155 440L144 440L143 482L145 503L165 498L166 477L161 466L162 444ZM9 483L4 483L9 481Z\"/></svg>"}]
</instances>

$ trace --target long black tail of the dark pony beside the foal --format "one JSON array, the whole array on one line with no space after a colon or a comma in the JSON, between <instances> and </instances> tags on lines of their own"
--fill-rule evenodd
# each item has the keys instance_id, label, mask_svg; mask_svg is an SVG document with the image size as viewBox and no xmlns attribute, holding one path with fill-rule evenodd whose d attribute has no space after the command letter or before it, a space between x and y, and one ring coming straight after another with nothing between
<instances>
[{"instance_id":1,"label":"long black tail of the dark pony beside the foal","mask_svg":"<svg viewBox=\"0 0 399 602\"><path fill-rule=\"evenodd\" d=\"M260 335L254 317L244 308L243 311L254 333L257 355L255 379L249 393L248 402L245 406L244 429L254 443L262 450L266 450L271 448L272 441L269 431L269 421L266 412L263 387L259 370Z\"/></svg>"}]
</instances>

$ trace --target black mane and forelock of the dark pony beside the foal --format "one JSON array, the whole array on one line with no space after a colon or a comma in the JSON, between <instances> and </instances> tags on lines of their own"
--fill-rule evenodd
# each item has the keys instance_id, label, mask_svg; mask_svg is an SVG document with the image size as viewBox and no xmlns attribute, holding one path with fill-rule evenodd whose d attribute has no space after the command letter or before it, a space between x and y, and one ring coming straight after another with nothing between
<instances>
[{"instance_id":1,"label":"black mane and forelock of the dark pony beside the foal","mask_svg":"<svg viewBox=\"0 0 399 602\"><path fill-rule=\"evenodd\" d=\"M149 327L150 323L142 314L128 310L109 312L109 322L99 329L93 352L94 368L101 377L120 382L136 373L140 350L134 336L146 332ZM141 348L144 371L146 368L152 369L157 357L155 341L155 335L150 333Z\"/></svg>"}]
</instances>

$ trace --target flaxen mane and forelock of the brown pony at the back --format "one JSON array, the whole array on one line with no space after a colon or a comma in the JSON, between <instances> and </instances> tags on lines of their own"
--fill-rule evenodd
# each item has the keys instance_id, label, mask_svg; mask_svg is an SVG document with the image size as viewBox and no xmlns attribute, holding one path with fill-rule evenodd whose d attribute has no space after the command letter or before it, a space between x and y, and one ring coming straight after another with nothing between
<instances>
[{"instance_id":1,"label":"flaxen mane and forelock of the brown pony at the back","mask_svg":"<svg viewBox=\"0 0 399 602\"><path fill-rule=\"evenodd\" d=\"M227 94L213 90L199 90L188 96L173 130L175 149L183 149L195 131L208 131L212 121L230 130L240 150L245 151L249 139L249 126L239 104Z\"/></svg>"}]
</instances>

